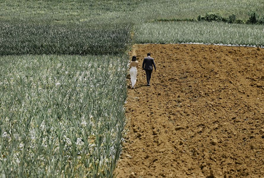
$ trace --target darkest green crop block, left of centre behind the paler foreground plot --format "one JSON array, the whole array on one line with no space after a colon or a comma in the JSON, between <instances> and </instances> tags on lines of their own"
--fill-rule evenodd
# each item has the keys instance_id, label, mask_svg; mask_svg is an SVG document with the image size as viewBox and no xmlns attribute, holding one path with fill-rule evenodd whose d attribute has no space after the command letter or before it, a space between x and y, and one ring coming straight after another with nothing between
<instances>
[{"instance_id":1,"label":"darkest green crop block, left of centre behind the paler foreground plot","mask_svg":"<svg viewBox=\"0 0 264 178\"><path fill-rule=\"evenodd\" d=\"M122 54L131 44L132 25L49 24L1 21L0 55Z\"/></svg>"}]
</instances>

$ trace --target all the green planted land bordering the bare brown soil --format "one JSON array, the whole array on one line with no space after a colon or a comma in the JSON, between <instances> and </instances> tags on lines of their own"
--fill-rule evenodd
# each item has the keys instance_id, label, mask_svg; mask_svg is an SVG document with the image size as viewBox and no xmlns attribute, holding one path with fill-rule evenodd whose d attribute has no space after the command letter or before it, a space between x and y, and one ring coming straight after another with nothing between
<instances>
[{"instance_id":1,"label":"all the green planted land bordering the bare brown soil","mask_svg":"<svg viewBox=\"0 0 264 178\"><path fill-rule=\"evenodd\" d=\"M115 176L132 43L264 46L263 0L0 0L0 8L1 177ZM240 24L199 21L206 15Z\"/></svg>"}]
</instances>

